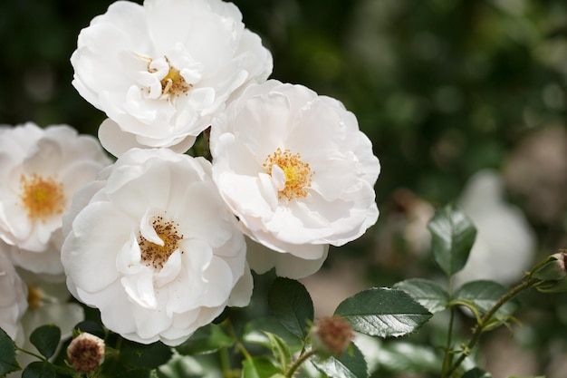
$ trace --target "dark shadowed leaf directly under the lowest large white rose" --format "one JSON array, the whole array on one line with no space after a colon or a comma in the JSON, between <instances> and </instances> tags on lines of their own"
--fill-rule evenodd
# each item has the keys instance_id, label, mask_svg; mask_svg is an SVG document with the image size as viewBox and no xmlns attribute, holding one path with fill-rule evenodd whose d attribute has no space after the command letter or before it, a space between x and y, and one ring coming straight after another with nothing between
<instances>
[{"instance_id":1,"label":"dark shadowed leaf directly under the lowest large white rose","mask_svg":"<svg viewBox=\"0 0 567 378\"><path fill-rule=\"evenodd\" d=\"M123 340L120 346L120 362L135 368L155 369L171 358L171 348L160 342L138 344Z\"/></svg>"}]
</instances>

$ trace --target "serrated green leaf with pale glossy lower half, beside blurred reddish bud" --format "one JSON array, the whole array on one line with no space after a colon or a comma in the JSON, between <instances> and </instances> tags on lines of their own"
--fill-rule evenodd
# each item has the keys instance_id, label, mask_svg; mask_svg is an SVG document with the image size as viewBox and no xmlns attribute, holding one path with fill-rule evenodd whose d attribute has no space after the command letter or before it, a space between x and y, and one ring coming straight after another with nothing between
<instances>
[{"instance_id":1,"label":"serrated green leaf with pale glossy lower half, beside blurred reddish bud","mask_svg":"<svg viewBox=\"0 0 567 378\"><path fill-rule=\"evenodd\" d=\"M432 316L405 291L373 287L351 296L337 307L354 331L389 337L409 334Z\"/></svg>"}]
</instances>

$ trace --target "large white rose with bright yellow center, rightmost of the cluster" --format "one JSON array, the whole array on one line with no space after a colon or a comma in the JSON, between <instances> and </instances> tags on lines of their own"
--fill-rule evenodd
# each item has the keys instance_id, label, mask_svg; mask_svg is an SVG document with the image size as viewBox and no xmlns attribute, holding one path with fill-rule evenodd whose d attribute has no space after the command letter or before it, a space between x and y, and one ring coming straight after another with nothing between
<instances>
[{"instance_id":1,"label":"large white rose with bright yellow center, rightmost of the cluster","mask_svg":"<svg viewBox=\"0 0 567 378\"><path fill-rule=\"evenodd\" d=\"M329 245L378 218L380 162L337 100L274 80L251 85L213 122L210 141L221 196L245 234L271 249L250 248L258 273L311 275Z\"/></svg>"}]
</instances>

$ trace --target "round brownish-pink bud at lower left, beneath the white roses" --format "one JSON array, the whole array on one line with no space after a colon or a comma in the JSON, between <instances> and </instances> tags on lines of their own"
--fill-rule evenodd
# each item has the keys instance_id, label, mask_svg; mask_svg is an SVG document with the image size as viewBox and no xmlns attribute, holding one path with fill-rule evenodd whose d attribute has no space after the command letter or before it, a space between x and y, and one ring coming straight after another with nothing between
<instances>
[{"instance_id":1,"label":"round brownish-pink bud at lower left, beneath the white roses","mask_svg":"<svg viewBox=\"0 0 567 378\"><path fill-rule=\"evenodd\" d=\"M78 373L92 372L104 359L104 341L94 334L79 334L67 347L67 357Z\"/></svg>"}]
</instances>

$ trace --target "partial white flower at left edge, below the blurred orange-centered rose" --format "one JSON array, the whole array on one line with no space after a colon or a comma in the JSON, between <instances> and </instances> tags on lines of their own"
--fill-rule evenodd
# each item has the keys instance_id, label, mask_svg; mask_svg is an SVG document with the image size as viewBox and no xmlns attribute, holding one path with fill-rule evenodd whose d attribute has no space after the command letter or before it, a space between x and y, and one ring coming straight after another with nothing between
<instances>
[{"instance_id":1,"label":"partial white flower at left edge, below the blurred orange-centered rose","mask_svg":"<svg viewBox=\"0 0 567 378\"><path fill-rule=\"evenodd\" d=\"M0 247L4 247L1 242ZM21 344L24 333L20 319L27 309L27 286L4 252L0 250L0 328Z\"/></svg>"}]
</instances>

